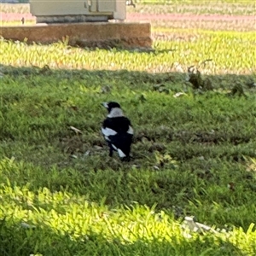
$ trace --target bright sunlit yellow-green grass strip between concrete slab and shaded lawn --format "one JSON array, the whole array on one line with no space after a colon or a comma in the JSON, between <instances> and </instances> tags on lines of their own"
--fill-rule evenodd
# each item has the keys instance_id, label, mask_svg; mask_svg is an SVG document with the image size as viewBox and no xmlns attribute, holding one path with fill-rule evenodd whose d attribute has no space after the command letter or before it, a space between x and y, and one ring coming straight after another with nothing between
<instances>
[{"instance_id":1,"label":"bright sunlit yellow-green grass strip between concrete slab and shaded lawn","mask_svg":"<svg viewBox=\"0 0 256 256\"><path fill-rule=\"evenodd\" d=\"M61 43L43 46L1 40L0 61L12 66L44 67L47 64L53 68L165 73L186 71L188 66L211 59L201 67L202 72L255 73L254 32L190 32L181 29L168 29L167 32L171 32L169 40L155 40L155 52L150 54L116 49L91 51ZM9 57L3 58L3 53Z\"/></svg>"}]
</instances>

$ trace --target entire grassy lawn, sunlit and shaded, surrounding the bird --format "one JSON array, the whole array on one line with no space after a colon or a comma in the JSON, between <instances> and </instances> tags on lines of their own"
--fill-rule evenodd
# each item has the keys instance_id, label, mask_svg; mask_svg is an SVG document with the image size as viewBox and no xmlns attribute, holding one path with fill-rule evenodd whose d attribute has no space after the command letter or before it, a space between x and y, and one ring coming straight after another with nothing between
<instances>
[{"instance_id":1,"label":"entire grassy lawn, sunlit and shaded, surrounding the bird","mask_svg":"<svg viewBox=\"0 0 256 256\"><path fill-rule=\"evenodd\" d=\"M1 39L1 256L256 254L255 32L168 24L152 51ZM127 163L100 132L112 100L135 130Z\"/></svg>"}]
</instances>

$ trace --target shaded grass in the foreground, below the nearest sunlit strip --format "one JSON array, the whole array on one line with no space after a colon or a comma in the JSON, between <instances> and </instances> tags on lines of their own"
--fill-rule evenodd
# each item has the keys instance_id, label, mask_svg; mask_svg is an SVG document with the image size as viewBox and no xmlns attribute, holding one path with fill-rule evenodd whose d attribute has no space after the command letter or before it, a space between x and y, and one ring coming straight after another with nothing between
<instances>
[{"instance_id":1,"label":"shaded grass in the foreground, below the nearest sunlit strip","mask_svg":"<svg viewBox=\"0 0 256 256\"><path fill-rule=\"evenodd\" d=\"M75 228L75 227L74 227ZM109 237L91 231L73 238L64 230L52 230L47 226L23 227L20 223L0 220L1 256L73 256L73 255L244 255L241 250L228 241L201 236L184 239L170 234L172 241L137 240L125 242L122 237ZM125 235L124 235L125 236Z\"/></svg>"}]
</instances>

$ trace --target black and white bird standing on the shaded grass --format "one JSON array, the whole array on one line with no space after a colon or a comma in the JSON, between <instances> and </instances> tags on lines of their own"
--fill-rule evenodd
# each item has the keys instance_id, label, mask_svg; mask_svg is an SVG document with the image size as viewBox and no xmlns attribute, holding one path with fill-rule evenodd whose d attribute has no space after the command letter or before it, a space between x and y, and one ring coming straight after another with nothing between
<instances>
[{"instance_id":1,"label":"black and white bird standing on the shaded grass","mask_svg":"<svg viewBox=\"0 0 256 256\"><path fill-rule=\"evenodd\" d=\"M108 116L102 123L102 134L109 147L109 156L117 151L121 160L130 160L133 128L117 102L103 102Z\"/></svg>"}]
</instances>

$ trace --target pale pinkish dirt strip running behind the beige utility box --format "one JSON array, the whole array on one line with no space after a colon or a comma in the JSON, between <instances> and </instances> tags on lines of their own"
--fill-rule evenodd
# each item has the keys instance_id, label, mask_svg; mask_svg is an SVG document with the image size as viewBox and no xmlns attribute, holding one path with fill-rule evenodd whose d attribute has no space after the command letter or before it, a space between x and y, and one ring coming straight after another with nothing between
<instances>
[{"instance_id":1,"label":"pale pinkish dirt strip running behind the beige utility box","mask_svg":"<svg viewBox=\"0 0 256 256\"><path fill-rule=\"evenodd\" d=\"M0 13L2 21L36 22L32 14ZM252 31L256 29L254 15L194 15L194 14L147 14L127 13L126 22L151 22L152 26L181 28L223 29Z\"/></svg>"}]
</instances>

